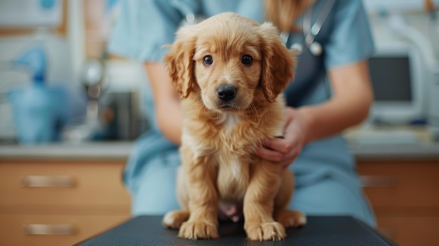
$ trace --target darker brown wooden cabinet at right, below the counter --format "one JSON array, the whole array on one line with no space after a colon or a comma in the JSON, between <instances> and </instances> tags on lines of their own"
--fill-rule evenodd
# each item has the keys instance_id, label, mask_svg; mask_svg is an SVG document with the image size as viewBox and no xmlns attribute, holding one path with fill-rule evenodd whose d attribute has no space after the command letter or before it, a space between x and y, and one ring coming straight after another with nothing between
<instances>
[{"instance_id":1,"label":"darker brown wooden cabinet at right, below the counter","mask_svg":"<svg viewBox=\"0 0 439 246\"><path fill-rule=\"evenodd\" d=\"M439 245L439 161L359 161L381 233L401 246Z\"/></svg>"}]
</instances>

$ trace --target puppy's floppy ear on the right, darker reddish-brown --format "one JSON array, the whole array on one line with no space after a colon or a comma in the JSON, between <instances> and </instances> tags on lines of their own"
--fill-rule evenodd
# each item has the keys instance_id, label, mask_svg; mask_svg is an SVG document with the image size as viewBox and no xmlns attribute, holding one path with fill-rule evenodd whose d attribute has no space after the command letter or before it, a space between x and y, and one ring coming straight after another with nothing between
<instances>
[{"instance_id":1,"label":"puppy's floppy ear on the right, darker reddish-brown","mask_svg":"<svg viewBox=\"0 0 439 246\"><path fill-rule=\"evenodd\" d=\"M259 26L262 45L262 91L273 102L294 78L297 52L288 50L279 36L278 29L270 22Z\"/></svg>"}]
</instances>

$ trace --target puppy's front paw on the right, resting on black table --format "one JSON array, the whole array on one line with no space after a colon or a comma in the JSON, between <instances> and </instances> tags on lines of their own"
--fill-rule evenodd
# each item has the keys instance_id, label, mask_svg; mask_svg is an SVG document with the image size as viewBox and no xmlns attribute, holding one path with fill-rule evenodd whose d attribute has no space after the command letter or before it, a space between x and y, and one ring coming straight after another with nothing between
<instances>
[{"instance_id":1,"label":"puppy's front paw on the right, resting on black table","mask_svg":"<svg viewBox=\"0 0 439 246\"><path fill-rule=\"evenodd\" d=\"M245 227L247 238L251 241L283 240L285 228L278 222L268 222Z\"/></svg>"}]
</instances>

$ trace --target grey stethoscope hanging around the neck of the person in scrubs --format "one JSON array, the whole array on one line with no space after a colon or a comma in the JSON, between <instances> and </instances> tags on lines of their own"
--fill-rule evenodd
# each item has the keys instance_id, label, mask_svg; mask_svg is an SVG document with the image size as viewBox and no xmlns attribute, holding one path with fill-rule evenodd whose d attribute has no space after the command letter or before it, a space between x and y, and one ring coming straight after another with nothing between
<instances>
[{"instance_id":1,"label":"grey stethoscope hanging around the neck of the person in scrubs","mask_svg":"<svg viewBox=\"0 0 439 246\"><path fill-rule=\"evenodd\" d=\"M302 21L302 33L304 35L304 45L309 49L309 52L314 56L320 56L323 53L322 45L316 41L316 36L322 29L323 23L327 18L327 15L330 13L332 6L334 5L335 0L326 1L323 10L318 15L316 22L311 25L312 18L312 7L308 8L303 17ZM308 30L308 33L305 33ZM288 43L288 39L290 38L290 34L281 33L281 38L285 41L285 44ZM299 50L299 52L303 51L302 43L292 43L290 46L291 49Z\"/></svg>"}]
</instances>

